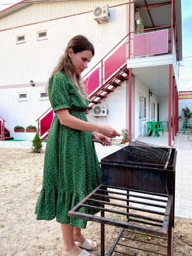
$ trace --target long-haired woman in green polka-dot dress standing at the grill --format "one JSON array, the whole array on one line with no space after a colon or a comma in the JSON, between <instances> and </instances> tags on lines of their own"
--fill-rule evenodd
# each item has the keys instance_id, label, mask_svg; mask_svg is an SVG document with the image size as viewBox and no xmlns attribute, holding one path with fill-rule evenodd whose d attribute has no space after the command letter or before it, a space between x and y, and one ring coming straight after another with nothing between
<instances>
[{"instance_id":1,"label":"long-haired woman in green polka-dot dress standing at the grill","mask_svg":"<svg viewBox=\"0 0 192 256\"><path fill-rule=\"evenodd\" d=\"M110 126L87 121L88 95L81 73L93 56L94 47L86 37L73 37L46 86L56 114L47 140L43 187L35 213L37 220L52 220L56 216L61 223L63 256L94 256L80 248L97 249L95 242L81 234L87 222L69 218L67 213L100 184L100 166L92 138L110 144L110 138L120 136ZM84 212L96 213L88 209Z\"/></svg>"}]
</instances>

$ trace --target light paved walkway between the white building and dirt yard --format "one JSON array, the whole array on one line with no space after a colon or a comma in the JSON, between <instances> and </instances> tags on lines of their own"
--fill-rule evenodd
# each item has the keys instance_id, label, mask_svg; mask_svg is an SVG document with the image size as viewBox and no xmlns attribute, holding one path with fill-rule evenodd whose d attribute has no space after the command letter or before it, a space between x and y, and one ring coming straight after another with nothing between
<instances>
[{"instance_id":1,"label":"light paved walkway between the white building and dirt yard","mask_svg":"<svg viewBox=\"0 0 192 256\"><path fill-rule=\"evenodd\" d=\"M192 134L190 134L190 139L192 139ZM158 142L153 144L162 144L160 141ZM151 142L148 141L148 143ZM31 149L31 146L31 141L0 141L0 148ZM45 147L46 142L43 142L43 149ZM188 134L179 133L173 147L177 149L175 217L192 219L192 142L188 140ZM103 147L99 143L95 143L95 148L99 160L120 149L115 145Z\"/></svg>"}]
</instances>

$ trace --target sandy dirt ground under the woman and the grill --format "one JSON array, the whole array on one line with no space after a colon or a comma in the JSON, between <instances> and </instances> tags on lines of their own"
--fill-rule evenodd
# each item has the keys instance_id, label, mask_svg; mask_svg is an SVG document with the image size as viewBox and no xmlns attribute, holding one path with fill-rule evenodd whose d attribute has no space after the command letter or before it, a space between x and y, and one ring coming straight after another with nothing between
<instances>
[{"instance_id":1,"label":"sandy dirt ground under the woman and the grill","mask_svg":"<svg viewBox=\"0 0 192 256\"><path fill-rule=\"evenodd\" d=\"M62 235L56 220L37 221L35 204L41 190L44 152L0 148L0 256L61 256ZM106 255L119 228L106 225ZM84 235L96 241L100 255L100 224L88 222ZM129 237L134 237L130 233ZM153 237L142 237L152 241ZM121 238L126 244L127 238ZM134 245L134 244L133 244ZM124 255L157 255L135 253L126 249ZM123 255L113 253L114 256ZM163 254L162 254L163 255ZM192 221L175 219L173 256L192 256Z\"/></svg>"}]
</instances>

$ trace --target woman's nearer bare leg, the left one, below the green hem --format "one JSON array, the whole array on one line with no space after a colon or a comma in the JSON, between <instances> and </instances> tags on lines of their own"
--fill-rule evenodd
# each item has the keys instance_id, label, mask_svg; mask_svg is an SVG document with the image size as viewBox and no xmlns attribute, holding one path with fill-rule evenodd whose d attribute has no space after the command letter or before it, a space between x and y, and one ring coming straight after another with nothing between
<instances>
[{"instance_id":1,"label":"woman's nearer bare leg, the left one, below the green hem","mask_svg":"<svg viewBox=\"0 0 192 256\"><path fill-rule=\"evenodd\" d=\"M78 256L82 250L74 243L74 228L70 227L69 224L61 224L61 231L63 235L63 256ZM95 255L91 254L90 256Z\"/></svg>"}]
</instances>

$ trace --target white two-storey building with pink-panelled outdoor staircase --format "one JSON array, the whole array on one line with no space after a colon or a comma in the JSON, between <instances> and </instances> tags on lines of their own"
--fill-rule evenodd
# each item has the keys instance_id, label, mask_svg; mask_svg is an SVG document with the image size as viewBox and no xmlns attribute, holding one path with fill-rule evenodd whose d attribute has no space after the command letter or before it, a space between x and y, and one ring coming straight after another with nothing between
<instances>
[{"instance_id":1,"label":"white two-storey building with pink-panelled outdoor staircase","mask_svg":"<svg viewBox=\"0 0 192 256\"><path fill-rule=\"evenodd\" d=\"M95 6L107 9L106 4L110 17L106 11L98 17L98 24L93 10ZM177 64L182 59L181 0L175 0L175 4L148 0L147 4L144 6L143 0L24 0L1 11L0 139L3 119L15 139L34 136L23 133L18 137L13 128L38 126L36 120L51 107L44 86L69 39L82 34L95 47L95 56L86 70L90 72L84 73L85 78L90 76L88 120L108 124L119 132L128 128L130 139L146 135L147 121L169 121L167 145L171 145L178 131L177 123L171 131L170 121L172 115L178 115L175 95ZM138 10L145 29L139 35L140 45L135 37L133 40ZM168 49L161 51L163 43ZM144 51L138 53L138 49ZM107 116L93 117L92 107L97 102L107 105ZM42 138L49 129L50 115L39 121ZM167 123L164 127L168 128Z\"/></svg>"}]
</instances>

